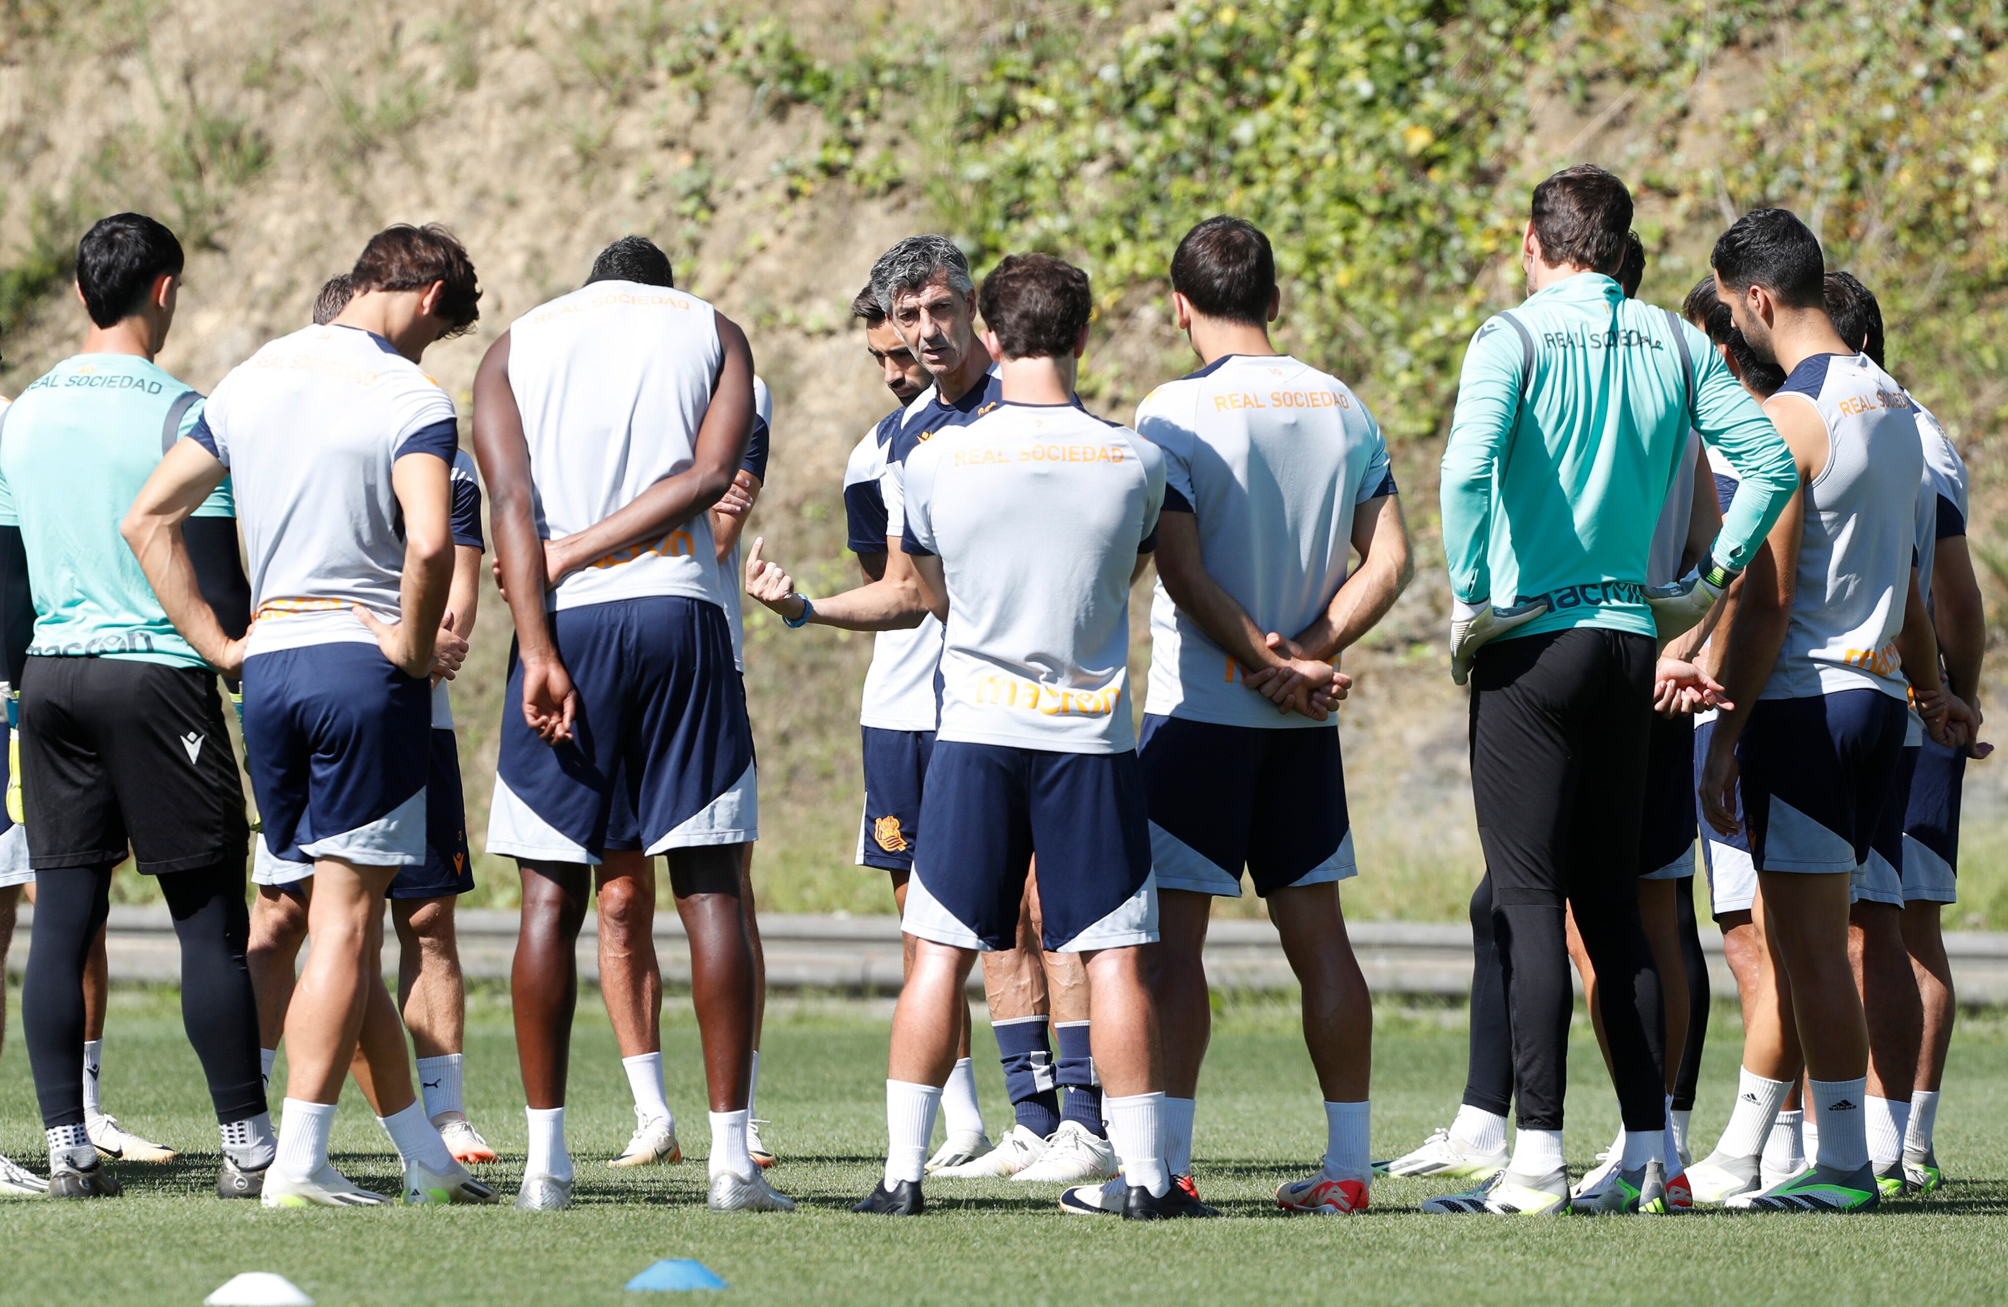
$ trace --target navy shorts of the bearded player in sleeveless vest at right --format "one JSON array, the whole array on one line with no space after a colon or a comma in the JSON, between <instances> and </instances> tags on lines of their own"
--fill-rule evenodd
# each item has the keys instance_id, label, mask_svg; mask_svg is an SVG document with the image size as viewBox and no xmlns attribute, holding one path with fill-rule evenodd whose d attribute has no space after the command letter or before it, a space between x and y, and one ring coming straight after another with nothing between
<instances>
[{"instance_id":1,"label":"navy shorts of the bearded player in sleeveless vest at right","mask_svg":"<svg viewBox=\"0 0 2008 1307\"><path fill-rule=\"evenodd\" d=\"M1753 865L1853 875L1896 793L1908 723L1881 691L1759 699L1737 739Z\"/></svg>"}]
</instances>

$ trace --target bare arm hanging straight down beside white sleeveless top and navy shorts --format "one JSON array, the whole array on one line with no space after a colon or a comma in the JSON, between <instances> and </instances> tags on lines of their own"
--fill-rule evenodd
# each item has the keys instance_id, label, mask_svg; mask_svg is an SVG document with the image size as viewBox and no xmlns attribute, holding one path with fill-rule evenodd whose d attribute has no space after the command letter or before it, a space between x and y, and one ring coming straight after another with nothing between
<instances>
[{"instance_id":1,"label":"bare arm hanging straight down beside white sleeveless top and navy shorts","mask_svg":"<svg viewBox=\"0 0 2008 1307\"><path fill-rule=\"evenodd\" d=\"M522 661L522 717L544 743L572 735L578 693L558 657L544 618L544 542L532 508L530 442L522 412L508 383L508 331L488 347L474 373L474 460L488 484L488 532L496 546L496 572L516 624Z\"/></svg>"}]
</instances>

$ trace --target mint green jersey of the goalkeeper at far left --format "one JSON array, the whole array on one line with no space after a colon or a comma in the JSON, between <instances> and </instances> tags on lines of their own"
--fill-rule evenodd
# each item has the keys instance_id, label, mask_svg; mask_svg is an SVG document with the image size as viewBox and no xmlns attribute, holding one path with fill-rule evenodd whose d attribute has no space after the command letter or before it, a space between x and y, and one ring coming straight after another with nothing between
<instances>
[{"instance_id":1,"label":"mint green jersey of the goalkeeper at far left","mask_svg":"<svg viewBox=\"0 0 2008 1307\"><path fill-rule=\"evenodd\" d=\"M20 526L34 592L34 657L205 667L155 598L118 524L203 396L131 353L78 353L0 420L0 524ZM231 484L199 518L237 516Z\"/></svg>"}]
</instances>

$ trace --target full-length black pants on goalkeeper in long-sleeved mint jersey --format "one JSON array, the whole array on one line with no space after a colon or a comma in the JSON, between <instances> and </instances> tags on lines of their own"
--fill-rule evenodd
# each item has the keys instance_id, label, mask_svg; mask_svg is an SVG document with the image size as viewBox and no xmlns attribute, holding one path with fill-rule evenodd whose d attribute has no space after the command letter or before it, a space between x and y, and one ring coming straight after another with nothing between
<instances>
[{"instance_id":1,"label":"full-length black pants on goalkeeper in long-sleeved mint jersey","mask_svg":"<svg viewBox=\"0 0 2008 1307\"><path fill-rule=\"evenodd\" d=\"M1639 924L1653 640L1596 626L1488 644L1472 669L1472 797L1512 1018L1522 1128L1560 1130L1564 905L1602 986L1626 1130L1667 1120L1665 1008Z\"/></svg>"}]
</instances>

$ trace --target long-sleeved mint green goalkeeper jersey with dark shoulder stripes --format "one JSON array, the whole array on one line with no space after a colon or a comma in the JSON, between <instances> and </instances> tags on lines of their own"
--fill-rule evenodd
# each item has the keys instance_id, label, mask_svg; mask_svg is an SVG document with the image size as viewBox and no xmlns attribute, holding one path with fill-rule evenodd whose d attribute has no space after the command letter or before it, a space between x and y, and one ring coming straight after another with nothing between
<instances>
[{"instance_id":1,"label":"long-sleeved mint green goalkeeper jersey with dark shoulder stripes","mask_svg":"<svg viewBox=\"0 0 2008 1307\"><path fill-rule=\"evenodd\" d=\"M1713 558L1741 570L1799 488L1757 402L1679 315L1580 273L1472 337L1444 450L1450 588L1498 608L1548 600L1502 638L1606 626L1655 634L1653 528L1687 432L1741 476Z\"/></svg>"}]
</instances>

